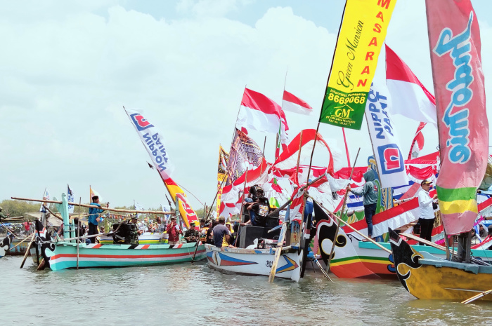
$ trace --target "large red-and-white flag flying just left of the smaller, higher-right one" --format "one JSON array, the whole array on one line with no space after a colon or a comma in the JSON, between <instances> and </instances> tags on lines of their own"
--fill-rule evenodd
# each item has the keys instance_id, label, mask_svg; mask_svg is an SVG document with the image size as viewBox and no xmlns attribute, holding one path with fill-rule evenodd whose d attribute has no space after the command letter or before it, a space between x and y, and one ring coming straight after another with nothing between
<instances>
[{"instance_id":1,"label":"large red-and-white flag flying just left of the smaller, higher-right one","mask_svg":"<svg viewBox=\"0 0 492 326\"><path fill-rule=\"evenodd\" d=\"M282 125L280 125L282 121ZM264 133L278 133L280 126L280 140L287 142L287 120L285 114L276 102L265 95L245 88L242 95L236 128L258 130Z\"/></svg>"}]
</instances>

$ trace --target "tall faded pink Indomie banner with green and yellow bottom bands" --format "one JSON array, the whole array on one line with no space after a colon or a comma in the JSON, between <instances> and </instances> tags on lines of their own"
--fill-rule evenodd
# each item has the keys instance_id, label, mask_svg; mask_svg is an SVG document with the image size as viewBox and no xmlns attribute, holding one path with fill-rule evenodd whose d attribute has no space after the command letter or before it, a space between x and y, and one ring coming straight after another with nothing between
<instances>
[{"instance_id":1,"label":"tall faded pink Indomie banner with green and yellow bottom bands","mask_svg":"<svg viewBox=\"0 0 492 326\"><path fill-rule=\"evenodd\" d=\"M449 235L470 231L488 158L480 30L470 0L426 0L441 170L436 189Z\"/></svg>"}]
</instances>

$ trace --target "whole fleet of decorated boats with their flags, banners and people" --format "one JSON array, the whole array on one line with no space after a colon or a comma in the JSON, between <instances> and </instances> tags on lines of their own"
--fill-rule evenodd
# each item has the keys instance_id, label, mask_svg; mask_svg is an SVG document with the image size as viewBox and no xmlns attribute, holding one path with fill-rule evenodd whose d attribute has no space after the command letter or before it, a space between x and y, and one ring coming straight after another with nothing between
<instances>
[{"instance_id":1,"label":"whole fleet of decorated boats with their flags, banners and people","mask_svg":"<svg viewBox=\"0 0 492 326\"><path fill-rule=\"evenodd\" d=\"M245 88L231 150L219 149L217 191L202 224L171 179L174 165L163 134L141 111L125 109L174 201L174 211L152 213L174 215L185 229L216 217L220 225L236 216L234 240L217 226L201 240L186 243L169 240L169 232L145 232L137 243L129 243L129 234L118 233L120 226L81 236L68 207L82 204L63 193L61 201L39 200L56 205L65 225L63 239L52 238L46 224L36 220L35 232L25 238L22 265L27 254L37 269L53 271L205 259L211 269L224 273L298 282L311 261L330 281L329 272L338 278L394 278L418 299L492 300L487 295L492 293L492 231L488 237L482 232L488 225L484 217L492 212L492 184L487 181L492 160L477 17L470 1L427 1L434 97L387 45L387 88L373 81L395 4L347 1L332 72L351 67L354 83L349 88L340 74L330 72L316 130L302 130L288 142L284 111L310 114L309 104L284 90L280 106ZM446 15L438 15L443 8ZM374 28L366 30L369 25ZM349 57L347 41L352 44ZM407 159L391 121L399 106L407 111L403 115L420 122ZM374 155L367 164L356 165L358 155L351 164L347 151L349 166L342 168L339 151L332 151L319 133L320 123L360 130L364 116ZM426 123L439 126L439 151L420 156ZM246 130L277 134L273 163ZM312 164L315 147L328 155L326 166ZM303 163L306 158L309 165ZM419 196L424 184L434 188L425 192L426 203ZM435 194L437 200L429 206ZM429 237L423 231L423 205L432 207L434 217ZM86 243L94 236L98 242ZM472 239L480 244L472 248ZM13 236L6 236L0 257L13 247Z\"/></svg>"}]
</instances>

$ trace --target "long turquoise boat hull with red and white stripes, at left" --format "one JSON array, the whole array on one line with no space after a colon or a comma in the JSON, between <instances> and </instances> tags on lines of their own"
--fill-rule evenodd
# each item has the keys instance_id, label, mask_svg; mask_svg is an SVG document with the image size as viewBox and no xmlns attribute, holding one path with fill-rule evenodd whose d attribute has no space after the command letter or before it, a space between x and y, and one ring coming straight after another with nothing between
<instances>
[{"instance_id":1,"label":"long turquoise boat hull with red and white stripes, at left","mask_svg":"<svg viewBox=\"0 0 492 326\"><path fill-rule=\"evenodd\" d=\"M191 262L195 243L179 245L79 245L79 268L155 266ZM36 255L36 250L32 250ZM56 243L54 250L46 250L45 260L53 271L77 268L77 245ZM199 245L195 260L205 258L205 246ZM37 257L34 257L34 262Z\"/></svg>"}]
</instances>

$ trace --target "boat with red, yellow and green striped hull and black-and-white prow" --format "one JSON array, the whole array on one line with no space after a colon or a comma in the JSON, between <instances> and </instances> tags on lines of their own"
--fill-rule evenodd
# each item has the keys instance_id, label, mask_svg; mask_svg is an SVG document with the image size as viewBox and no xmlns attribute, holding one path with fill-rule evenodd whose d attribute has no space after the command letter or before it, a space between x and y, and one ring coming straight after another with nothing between
<instances>
[{"instance_id":1,"label":"boat with red, yellow and green striped hull and black-and-white prow","mask_svg":"<svg viewBox=\"0 0 492 326\"><path fill-rule=\"evenodd\" d=\"M328 220L317 224L318 245L321 258L328 264L328 257L335 235L336 225ZM378 243L391 250L389 243ZM445 259L446 252L425 245L411 245L417 252L432 254L438 259ZM490 250L472 250L473 257L484 262L492 262ZM330 262L330 271L339 278L397 278L393 254L382 250L374 243L347 236L339 229L335 254Z\"/></svg>"}]
</instances>

